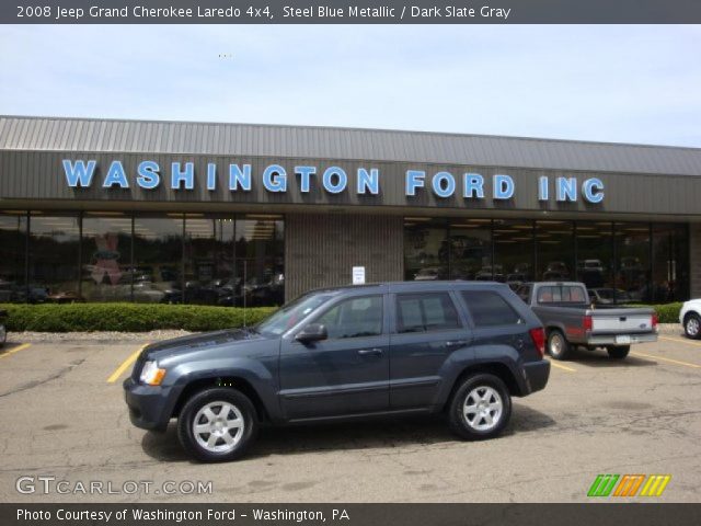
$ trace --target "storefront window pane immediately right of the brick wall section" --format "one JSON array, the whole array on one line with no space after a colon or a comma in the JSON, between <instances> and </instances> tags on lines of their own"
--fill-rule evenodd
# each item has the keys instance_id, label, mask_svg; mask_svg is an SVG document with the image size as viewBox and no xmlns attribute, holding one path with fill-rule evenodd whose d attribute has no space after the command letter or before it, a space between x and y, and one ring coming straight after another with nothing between
<instances>
[{"instance_id":1,"label":"storefront window pane immediately right of the brick wall section","mask_svg":"<svg viewBox=\"0 0 701 526\"><path fill-rule=\"evenodd\" d=\"M445 221L404 218L404 279L448 278L448 230Z\"/></svg>"}]
</instances>

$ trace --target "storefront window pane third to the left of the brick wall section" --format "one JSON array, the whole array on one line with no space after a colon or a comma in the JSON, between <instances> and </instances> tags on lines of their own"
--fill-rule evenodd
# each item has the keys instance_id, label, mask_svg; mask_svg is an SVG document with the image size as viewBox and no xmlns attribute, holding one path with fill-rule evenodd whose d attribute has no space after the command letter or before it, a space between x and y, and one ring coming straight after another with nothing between
<instances>
[{"instance_id":1,"label":"storefront window pane third to the left of the brick wall section","mask_svg":"<svg viewBox=\"0 0 701 526\"><path fill-rule=\"evenodd\" d=\"M183 216L134 218L134 296L148 291L149 301L183 300Z\"/></svg>"}]
</instances>

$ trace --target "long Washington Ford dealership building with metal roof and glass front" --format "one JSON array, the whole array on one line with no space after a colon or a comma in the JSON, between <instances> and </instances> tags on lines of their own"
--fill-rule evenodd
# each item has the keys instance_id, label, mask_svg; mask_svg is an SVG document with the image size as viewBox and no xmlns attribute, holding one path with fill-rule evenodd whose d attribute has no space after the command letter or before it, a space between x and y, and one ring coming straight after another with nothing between
<instances>
[{"instance_id":1,"label":"long Washington Ford dealership building with metal roof and glass front","mask_svg":"<svg viewBox=\"0 0 701 526\"><path fill-rule=\"evenodd\" d=\"M354 275L700 297L701 149L0 117L0 301L277 305Z\"/></svg>"}]
</instances>

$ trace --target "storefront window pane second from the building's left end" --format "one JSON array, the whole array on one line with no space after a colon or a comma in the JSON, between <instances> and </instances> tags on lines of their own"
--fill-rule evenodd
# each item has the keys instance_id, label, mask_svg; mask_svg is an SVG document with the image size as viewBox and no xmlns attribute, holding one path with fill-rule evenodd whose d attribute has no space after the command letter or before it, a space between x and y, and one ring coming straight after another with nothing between
<instances>
[{"instance_id":1,"label":"storefront window pane second from the building's left end","mask_svg":"<svg viewBox=\"0 0 701 526\"><path fill-rule=\"evenodd\" d=\"M78 294L80 266L78 216L45 216L30 219L30 302L82 301Z\"/></svg>"}]
</instances>

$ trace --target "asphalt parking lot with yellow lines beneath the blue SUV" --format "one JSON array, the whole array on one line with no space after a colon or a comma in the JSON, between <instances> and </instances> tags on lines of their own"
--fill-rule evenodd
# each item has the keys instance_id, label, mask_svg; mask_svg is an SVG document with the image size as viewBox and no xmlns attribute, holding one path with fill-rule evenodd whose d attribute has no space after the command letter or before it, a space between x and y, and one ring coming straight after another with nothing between
<instances>
[{"instance_id":1,"label":"asphalt parking lot with yellow lines beneath the blue SUV","mask_svg":"<svg viewBox=\"0 0 701 526\"><path fill-rule=\"evenodd\" d=\"M191 461L173 425L153 434L129 423L119 366L145 342L10 341L1 502L572 502L589 500L599 473L670 474L647 500L699 501L701 342L676 333L624 362L596 352L554 363L544 391L515 399L498 439L460 442L439 419L264 428L246 458L223 465ZM43 494L39 476L67 493ZM21 477L32 478L27 493ZM103 493L83 495L93 481ZM152 481L148 494L139 481ZM191 481L211 491L193 493Z\"/></svg>"}]
</instances>

